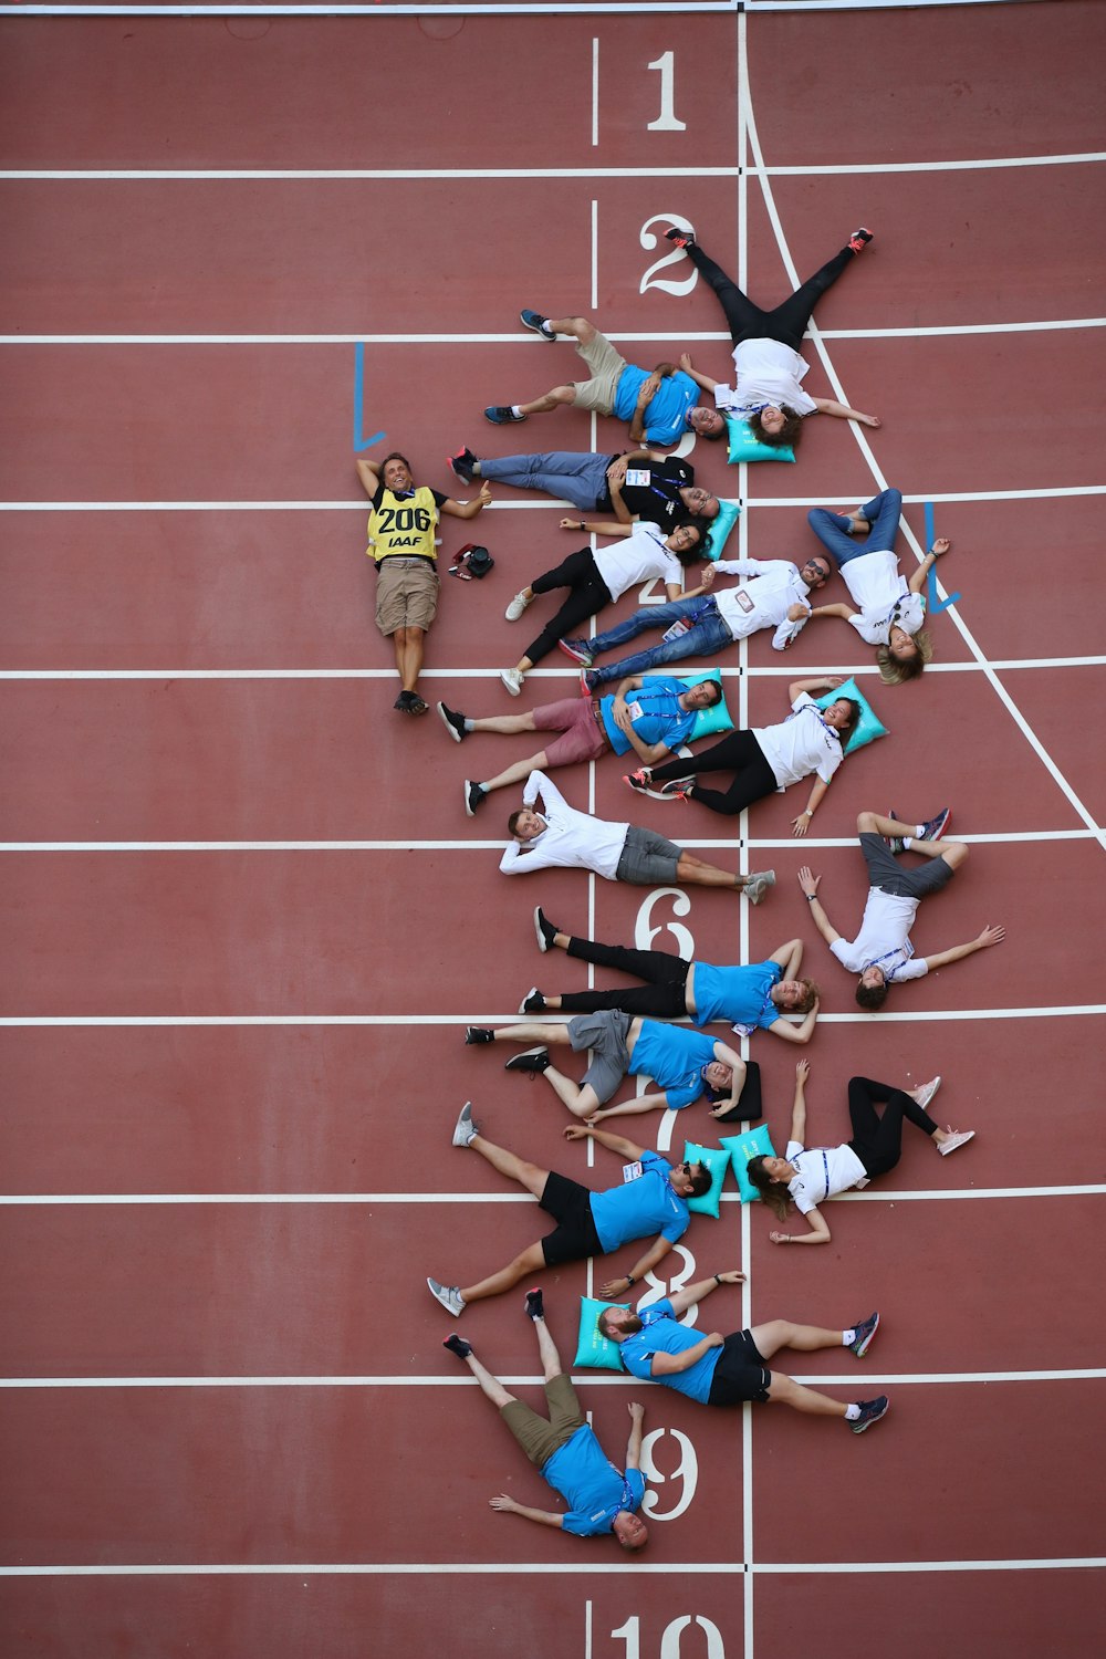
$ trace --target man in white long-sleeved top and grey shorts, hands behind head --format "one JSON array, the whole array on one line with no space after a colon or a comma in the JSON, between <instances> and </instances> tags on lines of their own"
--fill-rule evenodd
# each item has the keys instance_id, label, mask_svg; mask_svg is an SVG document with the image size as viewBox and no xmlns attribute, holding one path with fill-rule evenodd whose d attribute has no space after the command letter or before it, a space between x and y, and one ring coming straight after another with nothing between
<instances>
[{"instance_id":1,"label":"man in white long-sleeved top and grey shorts, hands behind head","mask_svg":"<svg viewBox=\"0 0 1106 1659\"><path fill-rule=\"evenodd\" d=\"M638 888L672 883L685 888L731 888L745 893L749 904L759 904L768 888L776 884L774 869L735 874L706 864L655 830L607 823L605 818L580 813L569 806L544 771L532 771L526 780L522 806L507 818L507 830L514 839L499 861L504 876L555 868L590 869L605 881L628 881Z\"/></svg>"}]
</instances>

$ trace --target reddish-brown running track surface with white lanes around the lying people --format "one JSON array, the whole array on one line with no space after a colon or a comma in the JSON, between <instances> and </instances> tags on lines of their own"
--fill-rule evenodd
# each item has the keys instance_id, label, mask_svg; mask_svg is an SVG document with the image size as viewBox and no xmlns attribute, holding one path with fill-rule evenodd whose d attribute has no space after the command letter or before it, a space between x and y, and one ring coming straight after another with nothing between
<instances>
[{"instance_id":1,"label":"reddish-brown running track surface with white lanes around the lying people","mask_svg":"<svg viewBox=\"0 0 1106 1659\"><path fill-rule=\"evenodd\" d=\"M385 13L0 23L3 1651L912 1659L1035 1654L1060 1632L1091 1654L1103 8ZM574 373L521 305L592 312L632 360L688 348L726 377L715 300L660 241L673 217L763 302L854 224L877 231L816 315L808 387L882 426L819 420L798 466L726 469L700 446L700 479L745 503L733 549L806 552L809 504L884 481L907 498L907 566L927 534L953 539L939 599L958 597L922 682L880 687L837 622L783 660L764 635L723 659L741 725L781 718L793 677L856 670L890 727L806 843L791 800L731 823L630 803L614 761L560 775L602 816L774 864L756 911L499 876L514 801L469 821L461 775L527 740L461 757L433 715L391 712L363 557L357 453L395 445L451 489L461 443L623 443L577 411L483 421ZM507 707L504 602L570 546L557 518L496 491L476 539L497 567L443 584L431 698ZM474 529L446 519L443 554ZM549 660L522 707L570 690ZM824 873L847 927L856 813L945 801L972 856L915 946L985 922L1007 942L861 1015L794 873ZM857 1070L942 1072L942 1121L978 1131L948 1163L907 1133L892 1176L834 1204L827 1249L774 1249L764 1211L730 1196L693 1223L675 1282L749 1276L700 1329L879 1307L862 1372L836 1350L778 1365L892 1410L856 1438L584 1374L615 1457L645 1389L638 1559L488 1506L552 1498L443 1354L423 1287L544 1231L451 1150L464 1098L539 1163L617 1180L610 1155L559 1140L549 1090L461 1045L534 979L587 984L537 956L537 901L716 962L801 934L824 984L813 1140L847 1133ZM779 1145L796 1052L754 1052ZM688 1117L622 1126L680 1151L711 1138ZM546 1276L565 1359L605 1276ZM463 1331L536 1399L519 1304Z\"/></svg>"}]
</instances>

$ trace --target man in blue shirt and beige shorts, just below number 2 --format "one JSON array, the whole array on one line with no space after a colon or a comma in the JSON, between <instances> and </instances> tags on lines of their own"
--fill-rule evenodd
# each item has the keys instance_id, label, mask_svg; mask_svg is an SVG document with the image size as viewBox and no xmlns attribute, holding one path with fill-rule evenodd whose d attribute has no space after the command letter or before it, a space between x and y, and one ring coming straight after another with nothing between
<instances>
[{"instance_id":1,"label":"man in blue shirt and beige shorts, just below number 2","mask_svg":"<svg viewBox=\"0 0 1106 1659\"><path fill-rule=\"evenodd\" d=\"M552 342L557 335L575 340L589 378L554 387L529 403L492 403L484 410L492 425L504 426L529 415L574 406L628 421L630 443L672 445L683 436L690 425L688 415L700 400L700 388L675 363L658 363L653 370L627 363L587 317L544 317L542 312L522 310L519 322L542 340Z\"/></svg>"}]
</instances>

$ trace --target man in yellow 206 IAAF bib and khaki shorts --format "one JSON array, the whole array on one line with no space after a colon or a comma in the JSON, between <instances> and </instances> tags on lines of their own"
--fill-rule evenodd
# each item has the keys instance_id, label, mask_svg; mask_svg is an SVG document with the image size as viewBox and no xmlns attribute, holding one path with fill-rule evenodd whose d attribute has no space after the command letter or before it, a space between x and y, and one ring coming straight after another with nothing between
<instances>
[{"instance_id":1,"label":"man in yellow 206 IAAF bib and khaki shorts","mask_svg":"<svg viewBox=\"0 0 1106 1659\"><path fill-rule=\"evenodd\" d=\"M416 685L426 630L438 611L434 526L441 513L476 518L491 501L491 489L481 484L474 501L454 501L426 484L416 488L411 463L398 453L383 461L358 461L357 473L373 503L368 557L376 564L376 627L391 635L403 687L395 707L406 715L424 715Z\"/></svg>"}]
</instances>

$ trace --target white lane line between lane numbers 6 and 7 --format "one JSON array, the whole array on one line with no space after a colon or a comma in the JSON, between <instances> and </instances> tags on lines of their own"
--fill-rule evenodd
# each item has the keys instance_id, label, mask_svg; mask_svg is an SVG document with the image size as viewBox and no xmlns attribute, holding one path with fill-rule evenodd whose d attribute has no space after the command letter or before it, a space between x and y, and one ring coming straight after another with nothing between
<instances>
[{"instance_id":1,"label":"white lane line between lane numbers 6 and 7","mask_svg":"<svg viewBox=\"0 0 1106 1659\"><path fill-rule=\"evenodd\" d=\"M1031 1009L895 1009L890 1014L819 1014L819 1025L929 1025L952 1020L1058 1020L1106 1014L1106 1002L1058 1004ZM217 1025L492 1025L509 1024L517 1014L5 1014L0 1030L63 1030L76 1027L217 1027Z\"/></svg>"}]
</instances>

